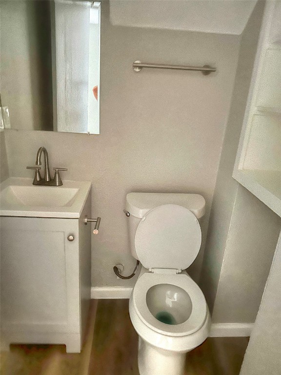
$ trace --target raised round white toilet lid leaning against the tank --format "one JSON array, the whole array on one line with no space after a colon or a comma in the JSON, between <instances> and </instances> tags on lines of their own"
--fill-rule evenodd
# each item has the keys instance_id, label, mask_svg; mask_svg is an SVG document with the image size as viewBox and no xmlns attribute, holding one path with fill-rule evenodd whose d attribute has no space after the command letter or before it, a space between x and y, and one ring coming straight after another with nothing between
<instances>
[{"instance_id":1,"label":"raised round white toilet lid leaning against the tank","mask_svg":"<svg viewBox=\"0 0 281 375\"><path fill-rule=\"evenodd\" d=\"M147 268L185 270L200 250L201 228L189 209L163 205L150 210L136 231L135 247Z\"/></svg>"}]
</instances>

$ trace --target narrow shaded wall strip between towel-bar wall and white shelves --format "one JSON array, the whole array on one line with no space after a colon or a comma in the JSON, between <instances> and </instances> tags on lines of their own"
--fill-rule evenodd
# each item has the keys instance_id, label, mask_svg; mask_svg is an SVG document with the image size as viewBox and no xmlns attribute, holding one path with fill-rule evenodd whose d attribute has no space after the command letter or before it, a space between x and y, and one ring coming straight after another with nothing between
<instances>
[{"instance_id":1,"label":"narrow shaded wall strip between towel-bar wall and white shelves","mask_svg":"<svg viewBox=\"0 0 281 375\"><path fill-rule=\"evenodd\" d=\"M256 55L262 11L263 4L258 2L242 34L235 86L210 214L201 288L211 311L221 276L221 265L239 187L238 182L232 178L232 171ZM233 251L235 252L235 249Z\"/></svg>"}]
</instances>

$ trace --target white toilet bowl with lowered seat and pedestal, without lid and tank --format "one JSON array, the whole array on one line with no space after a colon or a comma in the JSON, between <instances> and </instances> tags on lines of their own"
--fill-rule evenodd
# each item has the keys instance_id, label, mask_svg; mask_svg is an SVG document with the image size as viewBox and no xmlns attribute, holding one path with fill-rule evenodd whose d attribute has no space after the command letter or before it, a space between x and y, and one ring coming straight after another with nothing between
<instances>
[{"instance_id":1,"label":"white toilet bowl with lowered seat and pedestal, without lid and tank","mask_svg":"<svg viewBox=\"0 0 281 375\"><path fill-rule=\"evenodd\" d=\"M205 298L184 271L157 277L146 271L129 301L130 318L139 334L140 374L183 374L185 354L209 333L211 320Z\"/></svg>"}]
</instances>

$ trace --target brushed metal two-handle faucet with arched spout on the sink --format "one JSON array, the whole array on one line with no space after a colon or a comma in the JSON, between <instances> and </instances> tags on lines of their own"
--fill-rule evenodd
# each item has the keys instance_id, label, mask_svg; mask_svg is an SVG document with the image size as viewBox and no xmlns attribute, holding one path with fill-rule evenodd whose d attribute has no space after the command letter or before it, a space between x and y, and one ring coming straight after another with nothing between
<instances>
[{"instance_id":1,"label":"brushed metal two-handle faucet with arched spout on the sink","mask_svg":"<svg viewBox=\"0 0 281 375\"><path fill-rule=\"evenodd\" d=\"M44 178L40 175L41 167L41 154L44 154L44 164L45 164L45 173ZM45 147L40 147L37 151L37 157L35 162L36 167L26 167L26 169L35 169L35 176L33 180L33 185L43 185L43 186L61 186L62 181L60 178L59 170L67 170L66 168L53 168L55 170L55 176L52 179L50 176L50 168L49 168L49 157L48 152Z\"/></svg>"}]
</instances>

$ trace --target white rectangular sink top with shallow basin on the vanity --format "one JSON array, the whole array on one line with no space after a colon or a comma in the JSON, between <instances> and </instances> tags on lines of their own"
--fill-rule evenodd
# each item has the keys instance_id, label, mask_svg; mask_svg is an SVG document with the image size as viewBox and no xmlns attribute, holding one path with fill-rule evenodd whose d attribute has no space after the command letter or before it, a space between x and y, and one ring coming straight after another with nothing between
<instances>
[{"instance_id":1,"label":"white rectangular sink top with shallow basin on the vanity","mask_svg":"<svg viewBox=\"0 0 281 375\"><path fill-rule=\"evenodd\" d=\"M91 184L64 181L62 186L34 186L32 179L10 177L0 185L0 215L77 218Z\"/></svg>"}]
</instances>

